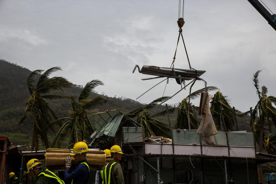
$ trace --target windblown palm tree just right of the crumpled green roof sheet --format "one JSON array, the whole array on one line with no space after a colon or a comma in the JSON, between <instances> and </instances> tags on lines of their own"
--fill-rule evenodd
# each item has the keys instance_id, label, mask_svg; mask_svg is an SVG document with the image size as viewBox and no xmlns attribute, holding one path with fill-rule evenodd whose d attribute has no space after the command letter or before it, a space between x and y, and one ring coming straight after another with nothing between
<instances>
[{"instance_id":1,"label":"windblown palm tree just right of the crumpled green roof sheet","mask_svg":"<svg viewBox=\"0 0 276 184\"><path fill-rule=\"evenodd\" d=\"M129 116L130 118L137 117L137 122L141 124L141 126L144 128L145 136L150 137L151 135L154 135L154 136L168 137L168 131L169 131L168 125L155 118L166 114L167 113L166 110L158 112L153 115L151 115L149 112L149 110L155 108L159 102L162 102L166 99L168 99L167 96L160 97L152 101L150 104L147 104L144 107L135 109L127 113L127 116ZM174 109L170 108L169 112L173 113Z\"/></svg>"}]
</instances>

